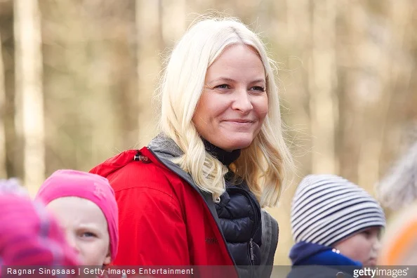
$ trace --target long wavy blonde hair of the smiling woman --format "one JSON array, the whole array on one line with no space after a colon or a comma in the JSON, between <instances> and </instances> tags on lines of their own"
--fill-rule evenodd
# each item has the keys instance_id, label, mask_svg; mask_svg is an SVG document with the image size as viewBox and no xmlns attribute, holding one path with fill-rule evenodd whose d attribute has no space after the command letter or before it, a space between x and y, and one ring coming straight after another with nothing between
<instances>
[{"instance_id":1,"label":"long wavy blonde hair of the smiling woman","mask_svg":"<svg viewBox=\"0 0 417 278\"><path fill-rule=\"evenodd\" d=\"M207 68L227 46L245 44L258 52L265 68L269 112L260 132L249 147L241 150L232 171L244 178L261 206L276 206L286 168L293 160L283 138L274 62L267 57L258 36L234 18L202 18L187 30L173 49L159 87L159 128L171 138L183 155L173 160L190 173L197 186L213 195L225 192L227 167L206 152L192 117L204 88Z\"/></svg>"}]
</instances>

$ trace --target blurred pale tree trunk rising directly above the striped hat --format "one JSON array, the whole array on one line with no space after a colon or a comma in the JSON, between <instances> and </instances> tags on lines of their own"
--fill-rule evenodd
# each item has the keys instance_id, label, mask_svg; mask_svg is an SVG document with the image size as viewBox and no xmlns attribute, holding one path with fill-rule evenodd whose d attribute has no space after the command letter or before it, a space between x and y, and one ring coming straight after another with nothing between
<instances>
[{"instance_id":1,"label":"blurred pale tree trunk rising directly above the striped hat","mask_svg":"<svg viewBox=\"0 0 417 278\"><path fill-rule=\"evenodd\" d=\"M312 173L337 173L335 135L338 123L336 87L336 1L313 1L310 61L310 127Z\"/></svg>"}]
</instances>

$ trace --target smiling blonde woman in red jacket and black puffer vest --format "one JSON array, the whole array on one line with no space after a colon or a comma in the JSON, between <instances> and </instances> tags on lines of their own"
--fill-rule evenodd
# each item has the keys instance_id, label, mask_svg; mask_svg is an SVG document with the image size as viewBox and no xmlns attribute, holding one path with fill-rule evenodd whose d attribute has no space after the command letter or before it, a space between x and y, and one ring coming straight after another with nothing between
<instances>
[{"instance_id":1,"label":"smiling blonde woman in red jacket and black puffer vest","mask_svg":"<svg viewBox=\"0 0 417 278\"><path fill-rule=\"evenodd\" d=\"M292 160L265 46L238 20L199 20L173 49L159 93L157 138L92 170L116 192L115 264L269 276L256 266L272 265L278 226L261 208L277 205Z\"/></svg>"}]
</instances>

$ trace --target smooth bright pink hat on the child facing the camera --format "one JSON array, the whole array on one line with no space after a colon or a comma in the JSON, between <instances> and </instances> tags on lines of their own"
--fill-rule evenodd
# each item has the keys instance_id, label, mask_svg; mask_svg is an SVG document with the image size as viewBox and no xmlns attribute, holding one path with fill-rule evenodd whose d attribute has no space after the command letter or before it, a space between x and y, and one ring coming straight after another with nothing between
<instances>
[{"instance_id":1,"label":"smooth bright pink hat on the child facing the camera","mask_svg":"<svg viewBox=\"0 0 417 278\"><path fill-rule=\"evenodd\" d=\"M96 204L105 215L110 235L112 260L116 258L119 243L119 211L114 190L107 178L75 170L55 171L39 189L35 199L45 204L61 197L79 197Z\"/></svg>"}]
</instances>

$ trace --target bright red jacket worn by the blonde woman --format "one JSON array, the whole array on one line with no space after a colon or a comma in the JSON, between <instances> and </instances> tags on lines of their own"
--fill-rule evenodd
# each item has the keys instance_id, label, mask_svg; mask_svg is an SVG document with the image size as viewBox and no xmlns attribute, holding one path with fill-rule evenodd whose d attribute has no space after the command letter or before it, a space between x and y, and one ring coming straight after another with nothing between
<instances>
[{"instance_id":1,"label":"bright red jacket worn by the blonde woman","mask_svg":"<svg viewBox=\"0 0 417 278\"><path fill-rule=\"evenodd\" d=\"M114 265L234 265L208 196L164 156L143 147L91 170L110 181L119 206Z\"/></svg>"}]
</instances>

